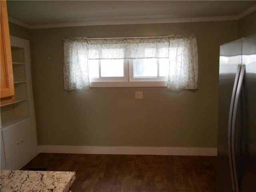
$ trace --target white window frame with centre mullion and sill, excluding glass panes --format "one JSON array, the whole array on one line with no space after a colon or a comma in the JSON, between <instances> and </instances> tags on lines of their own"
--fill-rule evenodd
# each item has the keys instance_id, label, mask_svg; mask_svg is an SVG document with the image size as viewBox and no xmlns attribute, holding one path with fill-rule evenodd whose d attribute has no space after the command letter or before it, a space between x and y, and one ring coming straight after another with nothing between
<instances>
[{"instance_id":1,"label":"white window frame with centre mullion and sill, excluding glass panes","mask_svg":"<svg viewBox=\"0 0 256 192\"><path fill-rule=\"evenodd\" d=\"M159 76L159 59L157 60L157 77L133 77L133 59L124 59L124 77L90 78L90 87L166 87L168 76ZM99 60L100 63L100 60Z\"/></svg>"}]
</instances>

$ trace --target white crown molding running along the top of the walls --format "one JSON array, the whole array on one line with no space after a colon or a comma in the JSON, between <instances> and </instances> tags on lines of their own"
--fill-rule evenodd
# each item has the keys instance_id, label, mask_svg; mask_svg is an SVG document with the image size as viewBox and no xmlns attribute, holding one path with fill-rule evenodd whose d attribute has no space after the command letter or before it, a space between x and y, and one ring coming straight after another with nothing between
<instances>
[{"instance_id":1,"label":"white crown molding running along the top of the walls","mask_svg":"<svg viewBox=\"0 0 256 192\"><path fill-rule=\"evenodd\" d=\"M56 23L30 25L14 18L9 17L9 22L22 26L28 29L43 29L43 28L60 28L74 26L95 26L95 25L121 25L121 24L156 24L156 23L184 23L184 22L210 22L210 21L228 21L239 20L248 14L256 11L256 5L245 10L237 16L219 16L219 17L197 17L197 18L115 18L109 20L87 20L84 22Z\"/></svg>"}]
</instances>

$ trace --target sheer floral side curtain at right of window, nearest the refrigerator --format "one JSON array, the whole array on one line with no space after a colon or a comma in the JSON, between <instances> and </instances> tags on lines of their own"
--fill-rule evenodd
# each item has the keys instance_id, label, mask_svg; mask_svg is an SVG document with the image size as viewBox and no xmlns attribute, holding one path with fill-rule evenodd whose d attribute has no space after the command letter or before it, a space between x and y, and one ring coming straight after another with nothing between
<instances>
[{"instance_id":1,"label":"sheer floral side curtain at right of window, nearest the refrigerator","mask_svg":"<svg viewBox=\"0 0 256 192\"><path fill-rule=\"evenodd\" d=\"M194 34L169 36L168 90L198 89L198 52Z\"/></svg>"}]
</instances>

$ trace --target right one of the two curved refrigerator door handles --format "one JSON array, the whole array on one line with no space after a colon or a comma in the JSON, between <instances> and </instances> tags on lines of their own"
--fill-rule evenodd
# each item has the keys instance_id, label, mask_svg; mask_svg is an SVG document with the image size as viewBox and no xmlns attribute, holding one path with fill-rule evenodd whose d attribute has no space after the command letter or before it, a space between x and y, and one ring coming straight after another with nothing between
<instances>
[{"instance_id":1,"label":"right one of the two curved refrigerator door handles","mask_svg":"<svg viewBox=\"0 0 256 192\"><path fill-rule=\"evenodd\" d=\"M236 117L238 113L238 104L240 100L240 95L242 91L242 84L244 80L244 72L245 65L242 65L241 72L238 80L238 85L236 89L236 97L234 102L234 111L232 117L232 128L231 128L231 148L232 148L232 162L233 162L233 171L234 171L234 184L235 184L235 192L239 192L238 186L238 174L237 174L237 166L236 166Z\"/></svg>"}]
</instances>

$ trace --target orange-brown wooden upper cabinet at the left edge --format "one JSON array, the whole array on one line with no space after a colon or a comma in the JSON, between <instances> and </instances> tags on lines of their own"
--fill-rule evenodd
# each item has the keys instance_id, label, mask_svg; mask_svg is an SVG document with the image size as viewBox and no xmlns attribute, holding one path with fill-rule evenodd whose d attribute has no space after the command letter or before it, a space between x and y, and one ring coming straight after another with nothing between
<instances>
[{"instance_id":1,"label":"orange-brown wooden upper cabinet at the left edge","mask_svg":"<svg viewBox=\"0 0 256 192\"><path fill-rule=\"evenodd\" d=\"M14 83L12 72L12 54L8 24L7 5L1 0L1 105L14 102Z\"/></svg>"}]
</instances>

